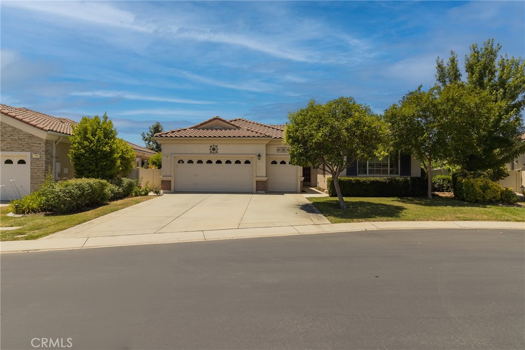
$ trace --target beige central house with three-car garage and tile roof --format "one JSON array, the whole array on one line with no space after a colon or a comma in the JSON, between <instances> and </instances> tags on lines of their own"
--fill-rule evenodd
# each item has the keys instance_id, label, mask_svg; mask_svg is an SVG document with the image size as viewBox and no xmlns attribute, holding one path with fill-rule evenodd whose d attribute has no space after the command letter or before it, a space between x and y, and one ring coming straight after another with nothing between
<instances>
[{"instance_id":1,"label":"beige central house with three-car garage and tile roof","mask_svg":"<svg viewBox=\"0 0 525 350\"><path fill-rule=\"evenodd\" d=\"M302 186L326 188L319 169L290 164L283 144L285 125L266 125L218 116L202 123L155 134L162 145L164 192L295 192ZM342 176L420 176L421 164L409 155L359 162Z\"/></svg>"}]
</instances>

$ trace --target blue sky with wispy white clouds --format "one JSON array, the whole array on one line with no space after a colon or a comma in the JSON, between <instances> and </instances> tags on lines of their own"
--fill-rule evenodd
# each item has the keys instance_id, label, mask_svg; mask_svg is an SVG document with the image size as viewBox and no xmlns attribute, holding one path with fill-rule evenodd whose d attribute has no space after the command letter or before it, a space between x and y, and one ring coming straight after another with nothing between
<instances>
[{"instance_id":1,"label":"blue sky with wispy white clouds","mask_svg":"<svg viewBox=\"0 0 525 350\"><path fill-rule=\"evenodd\" d=\"M1 101L119 136L215 115L278 124L315 99L381 113L431 86L437 56L495 38L525 56L525 2L9 2Z\"/></svg>"}]
</instances>

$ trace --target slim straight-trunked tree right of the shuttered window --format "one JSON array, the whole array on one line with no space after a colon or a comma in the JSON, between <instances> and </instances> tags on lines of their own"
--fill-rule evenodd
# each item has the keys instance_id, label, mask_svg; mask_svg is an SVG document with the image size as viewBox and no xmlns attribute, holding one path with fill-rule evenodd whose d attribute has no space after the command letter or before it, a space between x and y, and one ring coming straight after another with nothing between
<instances>
[{"instance_id":1,"label":"slim straight-trunked tree right of the shuttered window","mask_svg":"<svg viewBox=\"0 0 525 350\"><path fill-rule=\"evenodd\" d=\"M424 161L427 174L432 174L432 162L443 157L446 145L446 121L438 98L439 88L424 91L419 86L385 111L385 119L390 124L391 147ZM428 198L432 198L431 176L427 177Z\"/></svg>"}]
</instances>

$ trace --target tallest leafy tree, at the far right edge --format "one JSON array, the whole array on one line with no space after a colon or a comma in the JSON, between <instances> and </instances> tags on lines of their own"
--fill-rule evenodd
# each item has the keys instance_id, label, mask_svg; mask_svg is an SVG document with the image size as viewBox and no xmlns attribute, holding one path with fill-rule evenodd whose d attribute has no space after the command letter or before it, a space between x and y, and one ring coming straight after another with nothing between
<instances>
[{"instance_id":1,"label":"tallest leafy tree, at the far right edge","mask_svg":"<svg viewBox=\"0 0 525 350\"><path fill-rule=\"evenodd\" d=\"M454 51L447 62L439 57L436 61L436 80L440 86L464 84L470 91L477 89L478 94L495 103L490 108L487 104L481 108L486 112L488 108L487 113L470 116L471 126L475 128L469 128L471 134L461 146L451 149L453 165L467 171L495 171L525 152L525 143L521 142L521 135L525 132L522 115L525 108L525 61L520 57L501 56L500 50L501 45L495 45L493 39L487 40L483 47L470 46L470 53L465 56L464 81ZM472 100L469 94L448 96L445 100L451 103L454 99L458 103ZM478 99L478 107L481 107L479 102ZM455 132L461 134L464 130ZM460 138L456 137L456 140Z\"/></svg>"}]
</instances>

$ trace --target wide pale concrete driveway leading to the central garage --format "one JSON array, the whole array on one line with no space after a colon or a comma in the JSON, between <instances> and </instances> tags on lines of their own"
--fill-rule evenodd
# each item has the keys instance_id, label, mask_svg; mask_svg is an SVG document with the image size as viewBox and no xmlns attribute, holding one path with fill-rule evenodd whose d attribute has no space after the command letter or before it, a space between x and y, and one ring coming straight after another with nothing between
<instances>
[{"instance_id":1,"label":"wide pale concrete driveway leading to the central garage","mask_svg":"<svg viewBox=\"0 0 525 350\"><path fill-rule=\"evenodd\" d=\"M43 239L329 224L300 194L166 194Z\"/></svg>"}]
</instances>

